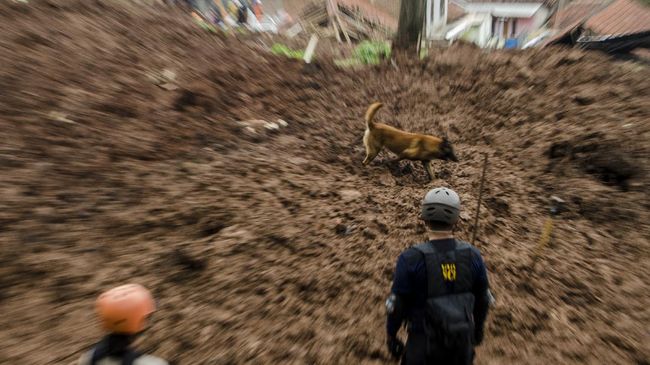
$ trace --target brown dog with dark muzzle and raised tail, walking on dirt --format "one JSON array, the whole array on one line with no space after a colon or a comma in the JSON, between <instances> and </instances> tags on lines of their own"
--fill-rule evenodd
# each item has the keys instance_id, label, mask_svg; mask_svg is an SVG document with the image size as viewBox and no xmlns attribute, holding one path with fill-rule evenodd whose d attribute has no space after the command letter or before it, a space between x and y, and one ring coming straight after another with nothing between
<instances>
[{"instance_id":1,"label":"brown dog with dark muzzle and raised tail, walking on dirt","mask_svg":"<svg viewBox=\"0 0 650 365\"><path fill-rule=\"evenodd\" d=\"M408 133L383 123L373 122L375 113L382 105L382 103L373 103L366 111L366 132L363 135L363 144L366 146L364 165L374 160L383 147L397 155L396 161L407 159L422 162L430 180L433 180L431 160L458 162L454 148L446 138Z\"/></svg>"}]
</instances>

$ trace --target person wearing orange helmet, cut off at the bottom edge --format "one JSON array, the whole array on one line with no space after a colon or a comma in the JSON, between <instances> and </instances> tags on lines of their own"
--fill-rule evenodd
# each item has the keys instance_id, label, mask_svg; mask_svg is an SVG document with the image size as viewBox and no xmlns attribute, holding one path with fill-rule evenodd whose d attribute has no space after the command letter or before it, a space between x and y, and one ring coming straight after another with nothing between
<instances>
[{"instance_id":1,"label":"person wearing orange helmet, cut off at the bottom edge","mask_svg":"<svg viewBox=\"0 0 650 365\"><path fill-rule=\"evenodd\" d=\"M131 348L156 310L149 290L138 284L110 289L97 298L95 309L108 334L81 356L79 365L168 365L161 358L141 355Z\"/></svg>"}]
</instances>

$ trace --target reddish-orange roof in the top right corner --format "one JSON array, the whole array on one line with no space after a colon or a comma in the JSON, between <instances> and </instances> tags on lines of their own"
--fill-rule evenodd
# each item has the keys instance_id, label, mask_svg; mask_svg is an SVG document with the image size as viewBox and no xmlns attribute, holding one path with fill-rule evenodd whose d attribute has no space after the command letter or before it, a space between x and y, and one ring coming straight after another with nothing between
<instances>
[{"instance_id":1,"label":"reddish-orange roof in the top right corner","mask_svg":"<svg viewBox=\"0 0 650 365\"><path fill-rule=\"evenodd\" d=\"M636 0L616 0L589 18L585 28L598 35L624 35L650 31L650 6Z\"/></svg>"}]
</instances>

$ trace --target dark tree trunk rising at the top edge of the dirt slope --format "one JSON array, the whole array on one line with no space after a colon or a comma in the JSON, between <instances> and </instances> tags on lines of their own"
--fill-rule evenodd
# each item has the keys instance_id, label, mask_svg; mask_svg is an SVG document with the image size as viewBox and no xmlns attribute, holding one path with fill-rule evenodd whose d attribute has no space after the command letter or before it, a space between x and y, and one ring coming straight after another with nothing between
<instances>
[{"instance_id":1,"label":"dark tree trunk rising at the top edge of the dirt slope","mask_svg":"<svg viewBox=\"0 0 650 365\"><path fill-rule=\"evenodd\" d=\"M402 0L397 26L395 50L417 50L423 31L426 0Z\"/></svg>"}]
</instances>

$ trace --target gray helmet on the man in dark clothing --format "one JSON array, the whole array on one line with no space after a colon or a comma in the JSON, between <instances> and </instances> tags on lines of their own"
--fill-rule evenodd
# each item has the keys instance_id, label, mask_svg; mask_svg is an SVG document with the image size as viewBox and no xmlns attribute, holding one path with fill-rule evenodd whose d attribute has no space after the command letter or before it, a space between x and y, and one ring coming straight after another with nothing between
<instances>
[{"instance_id":1,"label":"gray helmet on the man in dark clothing","mask_svg":"<svg viewBox=\"0 0 650 365\"><path fill-rule=\"evenodd\" d=\"M429 190L422 200L421 218L427 222L440 222L453 225L460 215L460 198L455 191L447 188Z\"/></svg>"}]
</instances>

